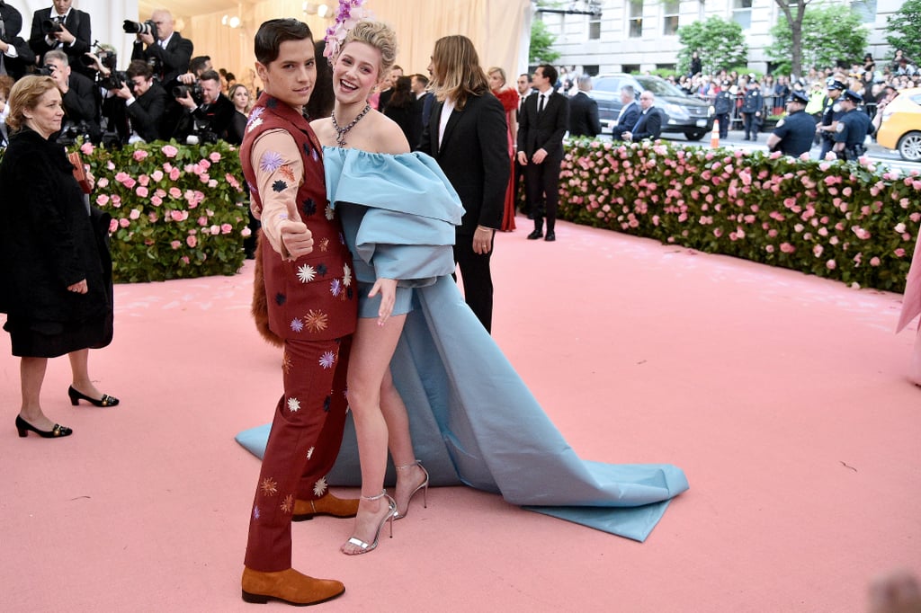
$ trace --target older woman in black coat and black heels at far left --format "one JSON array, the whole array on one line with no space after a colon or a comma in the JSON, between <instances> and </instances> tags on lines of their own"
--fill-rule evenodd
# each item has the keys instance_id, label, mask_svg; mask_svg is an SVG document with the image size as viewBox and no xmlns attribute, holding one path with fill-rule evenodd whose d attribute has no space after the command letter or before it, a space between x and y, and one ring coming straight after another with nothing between
<instances>
[{"instance_id":1,"label":"older woman in black coat and black heels at far left","mask_svg":"<svg viewBox=\"0 0 921 613\"><path fill-rule=\"evenodd\" d=\"M87 372L89 348L112 337L109 217L89 206L64 148L61 93L48 76L26 76L10 91L10 143L0 164L0 312L8 314L13 355L22 358L19 436L72 434L41 411L48 358L67 353L72 404L114 406Z\"/></svg>"}]
</instances>

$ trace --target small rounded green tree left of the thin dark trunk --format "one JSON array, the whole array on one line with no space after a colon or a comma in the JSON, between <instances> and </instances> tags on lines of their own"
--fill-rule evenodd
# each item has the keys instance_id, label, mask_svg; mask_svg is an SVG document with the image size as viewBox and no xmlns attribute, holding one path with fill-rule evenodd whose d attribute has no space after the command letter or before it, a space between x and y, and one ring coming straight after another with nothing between
<instances>
[{"instance_id":1,"label":"small rounded green tree left of the thin dark trunk","mask_svg":"<svg viewBox=\"0 0 921 613\"><path fill-rule=\"evenodd\" d=\"M705 75L712 75L737 64L748 63L748 43L742 27L735 21L710 17L706 21L678 29L682 50L678 52L678 70L686 74L691 66L691 54L697 52Z\"/></svg>"}]
</instances>

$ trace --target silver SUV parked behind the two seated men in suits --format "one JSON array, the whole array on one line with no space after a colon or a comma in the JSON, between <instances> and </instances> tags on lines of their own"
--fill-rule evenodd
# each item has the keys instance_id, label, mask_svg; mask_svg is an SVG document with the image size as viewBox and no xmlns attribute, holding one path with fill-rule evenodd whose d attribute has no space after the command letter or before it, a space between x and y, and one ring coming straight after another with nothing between
<instances>
[{"instance_id":1,"label":"silver SUV parked behind the two seated men in suits","mask_svg":"<svg viewBox=\"0 0 921 613\"><path fill-rule=\"evenodd\" d=\"M713 129L716 117L711 104L688 96L659 76L617 73L592 79L589 96L598 100L602 132L611 133L617 125L617 115L624 106L621 87L625 85L634 87L636 98L647 89L656 95L656 107L662 112L663 133L683 133L689 141L699 141Z\"/></svg>"}]
</instances>

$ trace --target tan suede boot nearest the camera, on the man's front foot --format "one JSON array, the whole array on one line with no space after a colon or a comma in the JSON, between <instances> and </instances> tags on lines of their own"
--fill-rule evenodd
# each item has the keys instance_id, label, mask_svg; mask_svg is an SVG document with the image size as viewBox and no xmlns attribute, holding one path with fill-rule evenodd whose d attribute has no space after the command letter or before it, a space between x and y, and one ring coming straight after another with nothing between
<instances>
[{"instance_id":1,"label":"tan suede boot nearest the camera, on the man's front foot","mask_svg":"<svg viewBox=\"0 0 921 613\"><path fill-rule=\"evenodd\" d=\"M345 586L332 579L314 579L293 568L276 573L262 573L243 568L243 600L264 605L281 600L295 607L316 605L342 596Z\"/></svg>"}]
</instances>

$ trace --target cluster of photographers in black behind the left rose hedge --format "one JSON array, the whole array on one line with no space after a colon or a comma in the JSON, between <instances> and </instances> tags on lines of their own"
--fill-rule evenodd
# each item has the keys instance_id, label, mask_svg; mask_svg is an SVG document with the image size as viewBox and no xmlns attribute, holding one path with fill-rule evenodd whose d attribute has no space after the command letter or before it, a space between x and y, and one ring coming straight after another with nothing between
<instances>
[{"instance_id":1,"label":"cluster of photographers in black behind the left rose hedge","mask_svg":"<svg viewBox=\"0 0 921 613\"><path fill-rule=\"evenodd\" d=\"M58 142L242 142L245 118L238 115L258 95L254 71L238 81L226 69L215 70L209 56L193 54L192 40L162 9L143 23L125 22L135 40L130 59L120 63L111 45L93 38L90 15L72 4L53 0L35 11L26 40L21 14L0 3L0 124L13 84L25 75L48 75L63 97ZM7 142L4 126L0 146Z\"/></svg>"}]
</instances>

